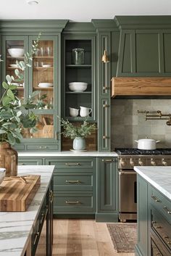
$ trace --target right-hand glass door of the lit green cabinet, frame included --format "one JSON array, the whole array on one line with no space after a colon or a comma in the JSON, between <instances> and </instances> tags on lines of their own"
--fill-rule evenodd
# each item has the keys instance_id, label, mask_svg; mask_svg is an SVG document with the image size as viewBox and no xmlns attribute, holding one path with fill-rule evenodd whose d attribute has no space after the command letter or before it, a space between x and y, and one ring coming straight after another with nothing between
<instances>
[{"instance_id":1,"label":"right-hand glass door of the lit green cabinet, frame included","mask_svg":"<svg viewBox=\"0 0 171 256\"><path fill-rule=\"evenodd\" d=\"M29 37L29 49L31 50L36 36ZM36 133L26 134L26 138L44 139L43 141L57 142L57 115L58 112L58 44L57 36L41 36L38 49L33 54L32 67L29 69L29 94L37 92L35 102L38 106L36 115L38 124ZM56 114L56 115L55 115Z\"/></svg>"}]
</instances>

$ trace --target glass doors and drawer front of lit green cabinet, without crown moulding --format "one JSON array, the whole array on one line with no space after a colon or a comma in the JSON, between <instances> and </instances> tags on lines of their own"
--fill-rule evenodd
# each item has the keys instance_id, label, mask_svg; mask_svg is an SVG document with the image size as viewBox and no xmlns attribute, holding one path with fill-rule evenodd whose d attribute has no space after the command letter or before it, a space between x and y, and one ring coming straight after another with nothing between
<instances>
[{"instance_id":1,"label":"glass doors and drawer front of lit green cabinet, without crown moulding","mask_svg":"<svg viewBox=\"0 0 171 256\"><path fill-rule=\"evenodd\" d=\"M17 61L23 60L24 54L31 52L36 38L37 36L4 36L3 80L7 74L15 78ZM23 80L20 83L14 81L17 85L16 95L19 98L28 98L32 93L36 94L34 99L37 109L29 111L33 111L38 117L38 131L32 133L33 130L23 129L22 144L25 146L16 145L17 149L59 149L59 64L59 36L41 36L36 53L33 54L33 62L30 62L31 67L27 67L24 72L21 71Z\"/></svg>"}]
</instances>

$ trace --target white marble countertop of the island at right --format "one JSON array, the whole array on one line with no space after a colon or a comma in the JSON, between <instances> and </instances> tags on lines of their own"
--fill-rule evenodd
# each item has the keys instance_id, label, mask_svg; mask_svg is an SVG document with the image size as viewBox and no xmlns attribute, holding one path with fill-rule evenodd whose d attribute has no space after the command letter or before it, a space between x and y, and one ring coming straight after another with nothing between
<instances>
[{"instance_id":1,"label":"white marble countertop of the island at right","mask_svg":"<svg viewBox=\"0 0 171 256\"><path fill-rule=\"evenodd\" d=\"M135 166L134 170L171 200L171 166Z\"/></svg>"}]
</instances>

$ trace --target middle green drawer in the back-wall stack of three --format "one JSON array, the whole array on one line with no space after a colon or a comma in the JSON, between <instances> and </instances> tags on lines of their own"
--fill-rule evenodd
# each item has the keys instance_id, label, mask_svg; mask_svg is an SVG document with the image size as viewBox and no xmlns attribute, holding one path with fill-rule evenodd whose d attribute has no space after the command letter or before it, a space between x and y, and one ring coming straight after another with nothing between
<instances>
[{"instance_id":1,"label":"middle green drawer in the back-wall stack of three","mask_svg":"<svg viewBox=\"0 0 171 256\"><path fill-rule=\"evenodd\" d=\"M54 174L55 189L92 189L93 173L57 173Z\"/></svg>"}]
</instances>

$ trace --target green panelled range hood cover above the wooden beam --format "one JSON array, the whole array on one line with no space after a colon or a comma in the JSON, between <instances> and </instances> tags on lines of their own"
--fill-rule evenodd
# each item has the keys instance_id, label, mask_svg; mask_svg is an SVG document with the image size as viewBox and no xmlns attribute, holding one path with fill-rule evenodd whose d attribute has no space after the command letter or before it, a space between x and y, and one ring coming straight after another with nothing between
<instances>
[{"instance_id":1,"label":"green panelled range hood cover above the wooden beam","mask_svg":"<svg viewBox=\"0 0 171 256\"><path fill-rule=\"evenodd\" d=\"M170 76L170 17L116 16L120 48L116 76Z\"/></svg>"}]
</instances>

